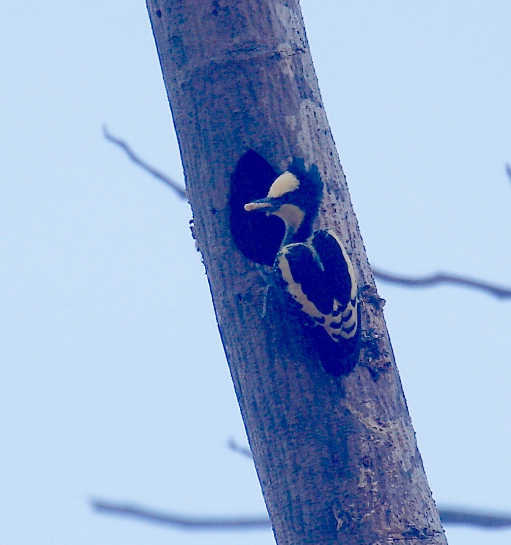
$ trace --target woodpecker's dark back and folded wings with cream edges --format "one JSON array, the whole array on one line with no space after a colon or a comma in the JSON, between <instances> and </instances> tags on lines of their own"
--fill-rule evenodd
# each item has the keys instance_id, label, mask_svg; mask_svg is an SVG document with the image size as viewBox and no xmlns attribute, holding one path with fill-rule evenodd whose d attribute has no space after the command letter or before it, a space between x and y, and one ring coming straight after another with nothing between
<instances>
[{"instance_id":1,"label":"woodpecker's dark back and folded wings with cream edges","mask_svg":"<svg viewBox=\"0 0 511 545\"><path fill-rule=\"evenodd\" d=\"M358 329L357 281L350 258L332 231L315 231L306 243L284 246L276 265L301 310L334 341Z\"/></svg>"}]
</instances>

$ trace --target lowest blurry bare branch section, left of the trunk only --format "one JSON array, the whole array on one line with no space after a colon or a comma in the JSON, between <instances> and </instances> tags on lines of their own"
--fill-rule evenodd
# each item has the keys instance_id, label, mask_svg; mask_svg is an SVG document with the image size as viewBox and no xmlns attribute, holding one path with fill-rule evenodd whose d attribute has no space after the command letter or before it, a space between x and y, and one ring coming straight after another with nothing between
<instances>
[{"instance_id":1,"label":"lowest blurry bare branch section, left of the trunk only","mask_svg":"<svg viewBox=\"0 0 511 545\"><path fill-rule=\"evenodd\" d=\"M145 522L177 526L185 530L258 530L271 528L270 519L267 517L194 518L162 513L135 505L114 504L102 500L93 500L91 504L94 510L100 513L118 514L123 517L142 519Z\"/></svg>"}]
</instances>

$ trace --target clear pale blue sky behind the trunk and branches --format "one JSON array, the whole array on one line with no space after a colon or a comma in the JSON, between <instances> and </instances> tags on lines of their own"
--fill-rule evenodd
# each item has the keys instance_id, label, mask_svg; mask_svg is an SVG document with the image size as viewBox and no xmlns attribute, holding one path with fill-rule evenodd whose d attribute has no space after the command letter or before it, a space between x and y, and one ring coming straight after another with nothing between
<instances>
[{"instance_id":1,"label":"clear pale blue sky behind the trunk and branches","mask_svg":"<svg viewBox=\"0 0 511 545\"><path fill-rule=\"evenodd\" d=\"M511 284L511 3L302 8L370 262ZM265 512L226 447L245 432L190 210L101 134L182 180L144 2L3 2L0 27L0 542L273 543L90 509ZM379 290L436 501L511 511L511 300Z\"/></svg>"}]
</instances>

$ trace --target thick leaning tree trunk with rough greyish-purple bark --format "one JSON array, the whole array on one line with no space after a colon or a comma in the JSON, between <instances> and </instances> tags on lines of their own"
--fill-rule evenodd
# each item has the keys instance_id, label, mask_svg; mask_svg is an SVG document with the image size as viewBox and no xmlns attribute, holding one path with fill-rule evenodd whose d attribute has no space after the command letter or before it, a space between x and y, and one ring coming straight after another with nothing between
<instances>
[{"instance_id":1,"label":"thick leaning tree trunk with rough greyish-purple bark","mask_svg":"<svg viewBox=\"0 0 511 545\"><path fill-rule=\"evenodd\" d=\"M147 3L194 237L277 542L446 543L298 2ZM366 286L364 350L348 377L325 374L278 298L261 316L261 267L240 253L229 227L230 176L248 149L277 171L304 158L323 177L320 226L339 234Z\"/></svg>"}]
</instances>

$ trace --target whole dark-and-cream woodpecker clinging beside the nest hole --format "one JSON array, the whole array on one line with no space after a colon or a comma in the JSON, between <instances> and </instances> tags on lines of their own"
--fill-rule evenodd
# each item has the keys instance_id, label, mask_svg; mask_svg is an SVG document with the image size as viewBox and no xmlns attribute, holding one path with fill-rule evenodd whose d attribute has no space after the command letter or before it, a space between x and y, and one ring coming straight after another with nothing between
<instances>
[{"instance_id":1,"label":"whole dark-and-cream woodpecker clinging beside the nest hole","mask_svg":"<svg viewBox=\"0 0 511 545\"><path fill-rule=\"evenodd\" d=\"M320 330L320 353L323 360L325 354L329 356L330 372L346 374L356 362L338 360L358 346L360 301L353 265L337 234L331 229L313 231L322 197L318 168L307 169L303 159L293 159L287 171L273 181L268 195L245 204L245 210L263 211L284 221L285 234L273 269L279 283L309 317L308 325ZM325 360L323 363L325 366Z\"/></svg>"}]
</instances>

